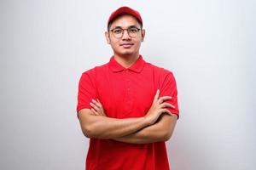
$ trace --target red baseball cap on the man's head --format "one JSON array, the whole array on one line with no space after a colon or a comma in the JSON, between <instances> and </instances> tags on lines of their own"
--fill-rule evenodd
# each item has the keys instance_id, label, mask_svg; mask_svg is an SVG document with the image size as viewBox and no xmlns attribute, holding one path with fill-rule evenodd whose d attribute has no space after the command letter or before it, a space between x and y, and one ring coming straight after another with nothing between
<instances>
[{"instance_id":1,"label":"red baseball cap on the man's head","mask_svg":"<svg viewBox=\"0 0 256 170\"><path fill-rule=\"evenodd\" d=\"M112 21L113 19L115 19L116 17L118 17L121 14L131 14L132 16L137 18L137 20L140 21L143 25L143 19L141 17L141 14L139 14L139 12L137 12L136 10L129 8L129 7L120 7L118 9L116 9L115 11L113 11L113 13L108 18L108 24L110 21Z\"/></svg>"}]
</instances>

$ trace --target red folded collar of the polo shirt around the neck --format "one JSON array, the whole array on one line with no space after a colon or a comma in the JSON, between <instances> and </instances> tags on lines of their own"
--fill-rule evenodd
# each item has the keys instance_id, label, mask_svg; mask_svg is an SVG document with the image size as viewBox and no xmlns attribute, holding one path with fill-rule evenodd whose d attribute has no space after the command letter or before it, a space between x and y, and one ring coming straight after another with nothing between
<instances>
[{"instance_id":1,"label":"red folded collar of the polo shirt around the neck","mask_svg":"<svg viewBox=\"0 0 256 170\"><path fill-rule=\"evenodd\" d=\"M142 55L139 55L138 59L136 60L136 62L131 65L129 68L127 68L128 70L140 73L141 71L143 71L143 67L144 67L145 61L143 59ZM119 72L119 71L124 71L126 70L125 67L123 67L122 65L120 65L112 56L109 60L108 63L109 67L111 68L111 70L113 72Z\"/></svg>"}]
</instances>

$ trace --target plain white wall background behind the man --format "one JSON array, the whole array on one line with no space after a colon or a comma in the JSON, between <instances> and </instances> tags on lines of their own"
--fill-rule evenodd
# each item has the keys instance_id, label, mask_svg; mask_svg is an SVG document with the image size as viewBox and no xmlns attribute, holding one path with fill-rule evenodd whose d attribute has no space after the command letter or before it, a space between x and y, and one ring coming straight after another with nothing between
<instances>
[{"instance_id":1,"label":"plain white wall background behind the man","mask_svg":"<svg viewBox=\"0 0 256 170\"><path fill-rule=\"evenodd\" d=\"M173 170L253 170L256 161L253 0L0 2L0 169L84 169L79 77L108 62L108 16L143 16L143 58L177 79Z\"/></svg>"}]
</instances>

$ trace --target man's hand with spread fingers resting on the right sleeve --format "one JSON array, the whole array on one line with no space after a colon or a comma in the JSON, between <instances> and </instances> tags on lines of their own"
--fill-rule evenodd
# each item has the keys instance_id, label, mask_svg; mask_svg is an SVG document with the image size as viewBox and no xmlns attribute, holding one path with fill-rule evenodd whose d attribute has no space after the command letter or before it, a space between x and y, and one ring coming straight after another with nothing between
<instances>
[{"instance_id":1,"label":"man's hand with spread fingers resting on the right sleeve","mask_svg":"<svg viewBox=\"0 0 256 170\"><path fill-rule=\"evenodd\" d=\"M172 115L172 113L168 111L166 107L175 108L174 105L164 102L165 100L172 99L171 96L162 96L159 98L159 94L160 90L157 89L156 94L154 95L153 104L151 105L147 115L145 116L150 125L154 124L162 113L166 112Z\"/></svg>"}]
</instances>

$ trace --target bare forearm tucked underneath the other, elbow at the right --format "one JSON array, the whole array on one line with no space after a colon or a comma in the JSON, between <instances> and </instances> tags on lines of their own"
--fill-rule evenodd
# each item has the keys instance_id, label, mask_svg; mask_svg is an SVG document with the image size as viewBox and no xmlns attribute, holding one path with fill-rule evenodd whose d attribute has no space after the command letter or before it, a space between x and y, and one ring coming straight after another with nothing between
<instances>
[{"instance_id":1,"label":"bare forearm tucked underneath the other, elbow at the right","mask_svg":"<svg viewBox=\"0 0 256 170\"><path fill-rule=\"evenodd\" d=\"M148 144L153 142L167 141L172 136L172 132L177 120L177 116L173 116L174 117L167 115L162 116L160 121L156 122L154 125L144 127L136 133L131 133L114 140L131 144Z\"/></svg>"}]
</instances>

